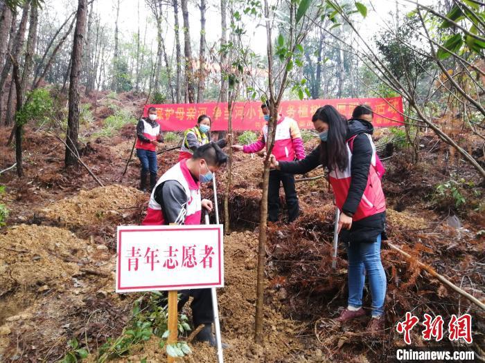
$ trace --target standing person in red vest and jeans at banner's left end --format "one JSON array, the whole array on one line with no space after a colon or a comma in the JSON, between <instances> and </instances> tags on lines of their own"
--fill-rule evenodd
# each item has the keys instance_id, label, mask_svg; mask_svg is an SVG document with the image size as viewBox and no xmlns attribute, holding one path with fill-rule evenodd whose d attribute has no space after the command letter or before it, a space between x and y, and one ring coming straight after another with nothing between
<instances>
[{"instance_id":1,"label":"standing person in red vest and jeans at banner's left end","mask_svg":"<svg viewBox=\"0 0 485 363\"><path fill-rule=\"evenodd\" d=\"M148 117L141 118L136 124L136 156L140 159L140 190L146 192L146 178L150 173L150 190L157 183L157 145L163 142L160 125L157 122L157 109L150 107Z\"/></svg>"}]
</instances>

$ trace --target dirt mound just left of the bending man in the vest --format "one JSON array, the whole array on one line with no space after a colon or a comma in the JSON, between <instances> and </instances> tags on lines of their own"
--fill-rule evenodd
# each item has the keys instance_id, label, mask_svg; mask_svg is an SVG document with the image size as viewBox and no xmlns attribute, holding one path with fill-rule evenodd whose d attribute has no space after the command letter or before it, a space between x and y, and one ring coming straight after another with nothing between
<instances>
[{"instance_id":1,"label":"dirt mound just left of the bending man in the vest","mask_svg":"<svg viewBox=\"0 0 485 363\"><path fill-rule=\"evenodd\" d=\"M48 205L39 212L64 225L96 225L105 218L123 219L123 215L147 199L147 194L132 187L109 185L81 190L78 195Z\"/></svg>"}]
</instances>

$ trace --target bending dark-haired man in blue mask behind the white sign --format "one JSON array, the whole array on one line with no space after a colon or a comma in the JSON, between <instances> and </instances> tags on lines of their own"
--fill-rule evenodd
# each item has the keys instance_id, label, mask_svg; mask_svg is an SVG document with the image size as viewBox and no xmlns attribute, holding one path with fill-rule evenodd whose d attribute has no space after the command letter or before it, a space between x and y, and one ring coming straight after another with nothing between
<instances>
[{"instance_id":1,"label":"bending dark-haired man in blue mask behind the white sign","mask_svg":"<svg viewBox=\"0 0 485 363\"><path fill-rule=\"evenodd\" d=\"M159 178L152 190L148 211L142 225L199 225L202 208L212 211L213 204L200 196L200 184L212 180L213 173L227 164L227 155L213 142L197 148L191 158L177 162ZM191 303L194 328L204 324L196 335L200 342L215 346L211 331L214 320L211 289L179 291L179 311L193 297Z\"/></svg>"}]
</instances>

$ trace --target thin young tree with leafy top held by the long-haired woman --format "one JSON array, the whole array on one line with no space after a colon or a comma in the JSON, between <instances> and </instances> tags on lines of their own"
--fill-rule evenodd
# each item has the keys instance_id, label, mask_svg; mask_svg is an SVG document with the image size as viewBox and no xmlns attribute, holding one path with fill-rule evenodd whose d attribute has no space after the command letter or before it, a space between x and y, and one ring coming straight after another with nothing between
<instances>
[{"instance_id":1,"label":"thin young tree with leafy top held by the long-haired woman","mask_svg":"<svg viewBox=\"0 0 485 363\"><path fill-rule=\"evenodd\" d=\"M256 343L263 342L263 308L265 289L265 266L266 266L266 241L267 241L267 196L270 179L270 155L274 147L274 136L276 134L276 122L278 120L279 105L283 93L291 84L292 89L297 91L302 99L304 93L309 94L306 89L305 80L294 82L297 78L295 71L303 66L303 46L301 42L305 39L312 21L319 17L321 8L315 8L308 12L310 0L288 1L285 3L285 13L279 8L269 5L265 0L263 3L263 19L265 21L267 37L267 92L264 99L267 99L270 108L270 122L268 122L266 156L263 169L263 195L261 196L261 210L259 223L258 240L258 266L256 283L256 315L254 327L254 340ZM250 10L249 10L250 11ZM307 15L308 13L308 15ZM274 37L272 30L274 24L280 24L279 35ZM276 58L276 59L275 59ZM277 63L276 63L277 62Z\"/></svg>"}]
</instances>

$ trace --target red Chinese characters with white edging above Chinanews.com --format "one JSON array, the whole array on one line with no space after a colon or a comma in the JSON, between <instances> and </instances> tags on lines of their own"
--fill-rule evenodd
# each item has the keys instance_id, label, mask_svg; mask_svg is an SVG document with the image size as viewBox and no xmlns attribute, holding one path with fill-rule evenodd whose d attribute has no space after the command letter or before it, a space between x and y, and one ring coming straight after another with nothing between
<instances>
[{"instance_id":1,"label":"red Chinese characters with white edging above Chinanews.com","mask_svg":"<svg viewBox=\"0 0 485 363\"><path fill-rule=\"evenodd\" d=\"M418 322L418 317L409 312L406 313L404 322L398 322L396 331L404 335L404 342L406 344L411 344L411 331ZM443 325L444 321L441 315L433 318L429 314L424 314L424 329L421 331L423 339L430 341L434 338L436 342L441 341L443 339ZM465 342L471 344L473 342L471 327L472 317L470 314L464 314L460 317L457 317L455 314L451 315L450 322L448 323L448 339L456 341L462 338Z\"/></svg>"}]
</instances>

